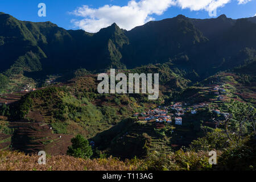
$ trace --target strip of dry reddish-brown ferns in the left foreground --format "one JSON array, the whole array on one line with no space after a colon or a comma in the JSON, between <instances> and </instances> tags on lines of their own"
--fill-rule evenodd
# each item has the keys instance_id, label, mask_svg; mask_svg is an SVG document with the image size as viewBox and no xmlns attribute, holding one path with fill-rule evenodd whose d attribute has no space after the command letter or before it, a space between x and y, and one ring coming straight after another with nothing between
<instances>
[{"instance_id":1,"label":"strip of dry reddish-brown ferns in the left foreground","mask_svg":"<svg viewBox=\"0 0 256 182\"><path fill-rule=\"evenodd\" d=\"M136 169L139 164L111 157L91 160L59 155L47 156L46 165L40 165L39 157L16 151L0 151L0 171L128 171Z\"/></svg>"}]
</instances>

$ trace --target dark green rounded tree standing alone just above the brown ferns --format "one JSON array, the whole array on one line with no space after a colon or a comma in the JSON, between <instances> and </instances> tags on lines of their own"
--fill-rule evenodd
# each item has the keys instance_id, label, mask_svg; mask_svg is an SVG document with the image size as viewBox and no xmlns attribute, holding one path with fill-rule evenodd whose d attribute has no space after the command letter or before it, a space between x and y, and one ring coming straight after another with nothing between
<instances>
[{"instance_id":1,"label":"dark green rounded tree standing alone just above the brown ferns","mask_svg":"<svg viewBox=\"0 0 256 182\"><path fill-rule=\"evenodd\" d=\"M93 155L92 147L82 135L76 135L75 138L71 139L71 142L72 146L68 147L67 155L83 159L90 158Z\"/></svg>"}]
</instances>

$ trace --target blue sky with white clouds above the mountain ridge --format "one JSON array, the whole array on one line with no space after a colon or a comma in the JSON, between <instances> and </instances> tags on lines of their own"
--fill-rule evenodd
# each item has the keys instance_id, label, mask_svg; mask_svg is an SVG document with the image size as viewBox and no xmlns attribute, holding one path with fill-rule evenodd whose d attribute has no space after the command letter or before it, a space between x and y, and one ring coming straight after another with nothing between
<instances>
[{"instance_id":1,"label":"blue sky with white clouds above the mountain ridge","mask_svg":"<svg viewBox=\"0 0 256 182\"><path fill-rule=\"evenodd\" d=\"M46 16L39 16L46 5ZM131 30L150 20L216 18L225 14L238 19L256 15L256 0L0 0L0 12L19 20L50 21L65 29L98 32L113 23Z\"/></svg>"}]
</instances>

